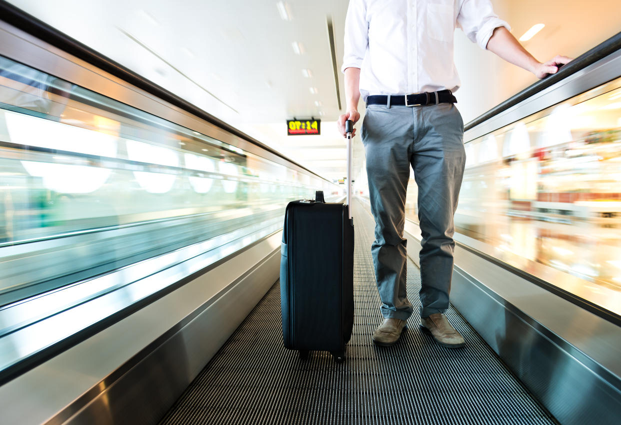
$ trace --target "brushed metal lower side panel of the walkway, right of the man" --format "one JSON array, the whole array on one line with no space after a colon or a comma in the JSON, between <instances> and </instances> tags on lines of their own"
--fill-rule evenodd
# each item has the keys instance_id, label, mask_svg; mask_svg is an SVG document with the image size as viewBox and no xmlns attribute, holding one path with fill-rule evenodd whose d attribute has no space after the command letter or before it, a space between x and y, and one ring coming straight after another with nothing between
<instances>
[{"instance_id":1,"label":"brushed metal lower side panel of the walkway, right of the man","mask_svg":"<svg viewBox=\"0 0 621 425\"><path fill-rule=\"evenodd\" d=\"M621 328L459 245L451 303L561 424L619 423Z\"/></svg>"}]
</instances>

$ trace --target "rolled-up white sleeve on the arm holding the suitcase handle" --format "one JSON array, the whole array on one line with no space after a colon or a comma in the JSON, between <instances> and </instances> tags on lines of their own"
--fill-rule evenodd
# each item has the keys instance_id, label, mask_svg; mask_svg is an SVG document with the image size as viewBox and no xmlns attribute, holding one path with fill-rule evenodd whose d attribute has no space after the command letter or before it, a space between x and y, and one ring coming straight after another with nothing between
<instances>
[{"instance_id":1,"label":"rolled-up white sleeve on the arm holding the suitcase handle","mask_svg":"<svg viewBox=\"0 0 621 425\"><path fill-rule=\"evenodd\" d=\"M369 24L366 22L365 0L350 0L345 17L345 52L343 66L347 68L361 68L365 58L366 47L369 44Z\"/></svg>"}]
</instances>

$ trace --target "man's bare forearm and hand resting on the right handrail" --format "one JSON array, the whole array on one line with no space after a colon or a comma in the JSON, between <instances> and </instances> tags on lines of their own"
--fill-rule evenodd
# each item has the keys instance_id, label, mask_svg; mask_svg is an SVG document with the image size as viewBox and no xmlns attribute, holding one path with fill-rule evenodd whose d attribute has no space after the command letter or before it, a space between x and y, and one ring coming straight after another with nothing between
<instances>
[{"instance_id":1,"label":"man's bare forearm and hand resting on the right handrail","mask_svg":"<svg viewBox=\"0 0 621 425\"><path fill-rule=\"evenodd\" d=\"M558 65L564 65L571 60L571 58L559 55L552 60L548 60L548 62L541 63L528 53L505 27L494 29L492 36L487 42L487 50L491 50L491 52L496 53L496 55L507 62L532 72L537 78L543 78L548 74L555 74L558 71Z\"/></svg>"}]
</instances>

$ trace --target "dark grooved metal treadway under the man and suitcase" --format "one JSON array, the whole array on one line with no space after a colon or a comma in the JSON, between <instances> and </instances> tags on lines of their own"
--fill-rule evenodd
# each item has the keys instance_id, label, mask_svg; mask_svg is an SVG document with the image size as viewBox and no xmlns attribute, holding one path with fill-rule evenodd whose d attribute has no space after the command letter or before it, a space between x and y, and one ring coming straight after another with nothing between
<instances>
[{"instance_id":1,"label":"dark grooved metal treadway under the man and suitcase","mask_svg":"<svg viewBox=\"0 0 621 425\"><path fill-rule=\"evenodd\" d=\"M419 331L414 314L401 340L376 347L381 322L371 240L356 223L355 324L347 360L327 352L300 360L284 349L278 282L170 409L172 424L554 424L481 337L451 307L465 337L445 349ZM408 260L417 311L419 269Z\"/></svg>"}]
</instances>

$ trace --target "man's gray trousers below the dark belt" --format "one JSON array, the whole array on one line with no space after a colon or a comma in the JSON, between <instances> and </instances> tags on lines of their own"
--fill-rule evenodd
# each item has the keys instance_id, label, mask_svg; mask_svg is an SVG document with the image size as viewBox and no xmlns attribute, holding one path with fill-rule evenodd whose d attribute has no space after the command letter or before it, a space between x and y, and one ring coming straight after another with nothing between
<instances>
[{"instance_id":1,"label":"man's gray trousers below the dark belt","mask_svg":"<svg viewBox=\"0 0 621 425\"><path fill-rule=\"evenodd\" d=\"M444 313L453 275L453 216L466 163L463 121L453 104L369 105L361 136L366 152L373 265L384 318L407 320L406 242L403 237L410 165L419 188L422 233L420 316Z\"/></svg>"}]
</instances>

